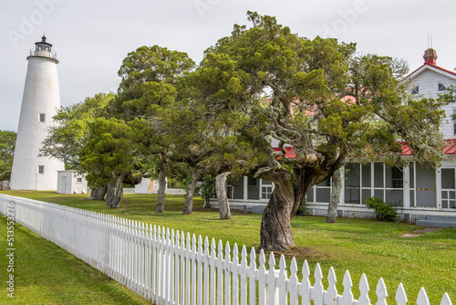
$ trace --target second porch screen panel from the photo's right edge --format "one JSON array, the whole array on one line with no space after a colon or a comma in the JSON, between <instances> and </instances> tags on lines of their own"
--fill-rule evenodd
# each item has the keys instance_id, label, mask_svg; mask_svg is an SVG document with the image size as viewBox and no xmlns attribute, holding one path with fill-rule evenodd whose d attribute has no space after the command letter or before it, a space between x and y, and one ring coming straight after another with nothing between
<instances>
[{"instance_id":1,"label":"second porch screen panel from the photo's right edge","mask_svg":"<svg viewBox=\"0 0 456 305\"><path fill-rule=\"evenodd\" d=\"M416 203L420 207L437 207L435 170L417 164L416 168Z\"/></svg>"}]
</instances>

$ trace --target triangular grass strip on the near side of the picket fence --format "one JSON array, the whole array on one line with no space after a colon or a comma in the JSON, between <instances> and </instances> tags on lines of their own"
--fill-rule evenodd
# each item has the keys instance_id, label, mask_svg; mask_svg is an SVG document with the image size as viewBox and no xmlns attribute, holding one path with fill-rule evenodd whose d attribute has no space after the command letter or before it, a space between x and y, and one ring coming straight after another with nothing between
<instances>
[{"instance_id":1,"label":"triangular grass strip on the near side of the picket fence","mask_svg":"<svg viewBox=\"0 0 456 305\"><path fill-rule=\"evenodd\" d=\"M0 304L149 304L73 255L15 225L14 299L7 296L6 217L0 215ZM9 253L9 252L8 252Z\"/></svg>"}]
</instances>

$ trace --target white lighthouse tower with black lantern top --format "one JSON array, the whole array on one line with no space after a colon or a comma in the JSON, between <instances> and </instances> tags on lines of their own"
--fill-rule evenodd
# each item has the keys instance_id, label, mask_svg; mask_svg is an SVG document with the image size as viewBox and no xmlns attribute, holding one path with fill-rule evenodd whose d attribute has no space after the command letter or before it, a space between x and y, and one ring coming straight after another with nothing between
<instances>
[{"instance_id":1,"label":"white lighthouse tower with black lantern top","mask_svg":"<svg viewBox=\"0 0 456 305\"><path fill-rule=\"evenodd\" d=\"M63 162L38 157L47 129L60 107L57 79L57 56L43 36L27 57L26 86L22 99L16 150L11 171L12 190L56 191L57 171L65 170Z\"/></svg>"}]
</instances>

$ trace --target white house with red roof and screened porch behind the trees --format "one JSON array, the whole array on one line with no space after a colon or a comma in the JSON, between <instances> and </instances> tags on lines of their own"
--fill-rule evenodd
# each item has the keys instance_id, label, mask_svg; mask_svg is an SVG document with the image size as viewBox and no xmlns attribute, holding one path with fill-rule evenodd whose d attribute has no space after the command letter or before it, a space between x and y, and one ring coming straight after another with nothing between
<instances>
[{"instance_id":1,"label":"white house with red roof and screened porch behind the trees","mask_svg":"<svg viewBox=\"0 0 456 305\"><path fill-rule=\"evenodd\" d=\"M406 81L412 94L438 98L450 86L456 87L456 73L436 65L435 50L428 49L424 64L409 74ZM445 107L446 120L441 125L447 146L444 153L449 161L437 170L420 167L412 161L407 145L403 145L403 169L386 166L382 162L346 163L338 216L373 217L366 205L368 196L378 196L399 205L399 218L407 221L426 216L456 216L456 123L451 115L456 104ZM286 148L287 157L294 157L292 147ZM451 156L454 156L452 160ZM313 215L326 216L331 179L315 185L306 195L307 210ZM249 177L233 179L227 184L227 195L233 208L261 212L274 190L274 184ZM214 205L216 201L212 201Z\"/></svg>"}]
</instances>

